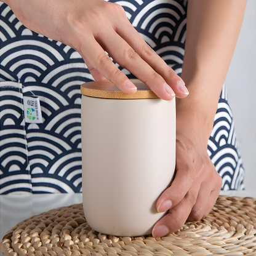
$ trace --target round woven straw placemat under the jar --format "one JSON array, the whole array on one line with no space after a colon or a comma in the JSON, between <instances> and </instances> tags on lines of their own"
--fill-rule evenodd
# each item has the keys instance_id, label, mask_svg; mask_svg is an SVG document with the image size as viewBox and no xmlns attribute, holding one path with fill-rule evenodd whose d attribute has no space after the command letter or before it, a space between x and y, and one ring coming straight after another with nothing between
<instances>
[{"instance_id":1,"label":"round woven straw placemat under the jar","mask_svg":"<svg viewBox=\"0 0 256 256\"><path fill-rule=\"evenodd\" d=\"M163 238L100 234L82 204L50 210L18 223L4 236L4 256L256 255L256 199L219 196L210 214Z\"/></svg>"}]
</instances>

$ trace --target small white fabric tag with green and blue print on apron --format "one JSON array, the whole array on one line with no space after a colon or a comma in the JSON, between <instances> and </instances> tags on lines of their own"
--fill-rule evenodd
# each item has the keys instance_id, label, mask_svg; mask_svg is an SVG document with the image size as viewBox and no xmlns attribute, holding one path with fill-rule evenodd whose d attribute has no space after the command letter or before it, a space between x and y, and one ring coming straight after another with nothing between
<instances>
[{"instance_id":1,"label":"small white fabric tag with green and blue print on apron","mask_svg":"<svg viewBox=\"0 0 256 256\"><path fill-rule=\"evenodd\" d=\"M23 96L25 122L42 124L42 112L39 97Z\"/></svg>"}]
</instances>

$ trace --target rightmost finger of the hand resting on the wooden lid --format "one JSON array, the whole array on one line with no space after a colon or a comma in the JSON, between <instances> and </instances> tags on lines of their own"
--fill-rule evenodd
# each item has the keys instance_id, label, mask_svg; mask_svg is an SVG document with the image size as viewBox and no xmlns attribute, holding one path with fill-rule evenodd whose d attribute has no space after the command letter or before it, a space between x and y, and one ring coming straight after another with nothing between
<instances>
[{"instance_id":1,"label":"rightmost finger of the hand resting on the wooden lid","mask_svg":"<svg viewBox=\"0 0 256 256\"><path fill-rule=\"evenodd\" d=\"M161 74L178 98L184 98L189 94L183 80L146 44L130 23L122 24L122 28L118 26L116 31L156 73Z\"/></svg>"}]
</instances>

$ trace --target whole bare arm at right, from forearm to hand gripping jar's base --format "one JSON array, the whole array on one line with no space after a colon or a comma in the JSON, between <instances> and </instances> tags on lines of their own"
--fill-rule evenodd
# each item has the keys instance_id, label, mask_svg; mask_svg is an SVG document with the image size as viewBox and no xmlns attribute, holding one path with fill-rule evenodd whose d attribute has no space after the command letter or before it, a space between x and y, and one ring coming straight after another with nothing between
<instances>
[{"instance_id":1,"label":"whole bare arm at right, from forearm to hand gripping jar's base","mask_svg":"<svg viewBox=\"0 0 256 256\"><path fill-rule=\"evenodd\" d=\"M207 140L245 7L246 0L188 1L182 78L190 95L176 102L176 175L156 204L160 212L170 210L154 226L154 236L177 231L186 220L201 219L218 197L222 179L207 154Z\"/></svg>"}]
</instances>

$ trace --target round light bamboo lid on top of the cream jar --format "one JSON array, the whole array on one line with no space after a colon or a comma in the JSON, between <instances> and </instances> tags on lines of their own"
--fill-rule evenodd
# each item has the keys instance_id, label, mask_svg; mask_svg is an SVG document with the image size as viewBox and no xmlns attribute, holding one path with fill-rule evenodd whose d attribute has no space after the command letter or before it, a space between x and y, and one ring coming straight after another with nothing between
<instances>
[{"instance_id":1,"label":"round light bamboo lid on top of the cream jar","mask_svg":"<svg viewBox=\"0 0 256 256\"><path fill-rule=\"evenodd\" d=\"M130 79L137 87L135 94L126 94L108 80L86 82L81 85L81 93L95 98L139 99L158 98L146 84L138 79Z\"/></svg>"}]
</instances>

